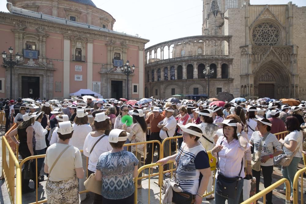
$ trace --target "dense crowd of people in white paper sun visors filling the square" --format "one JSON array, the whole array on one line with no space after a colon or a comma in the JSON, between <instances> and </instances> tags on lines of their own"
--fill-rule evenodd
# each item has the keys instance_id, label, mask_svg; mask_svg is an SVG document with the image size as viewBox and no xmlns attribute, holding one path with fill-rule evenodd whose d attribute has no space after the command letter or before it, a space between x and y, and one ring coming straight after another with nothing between
<instances>
[{"instance_id":1,"label":"dense crowd of people in white paper sun visors filling the square","mask_svg":"<svg viewBox=\"0 0 306 204\"><path fill-rule=\"evenodd\" d=\"M293 158L289 165L282 166L282 174L290 181L293 200L293 178L306 154L304 102L290 107L281 101L249 100L217 106L187 99L171 102L151 97L147 102L131 104L78 97L63 102L24 102L18 98L6 100L2 106L6 131L13 122L18 125L9 137L19 145L21 158L46 154L37 161L37 178L25 176L29 166L35 169L35 161L24 164L22 193L35 191L29 187L30 180L39 184L47 176L48 203L85 200L86 193L79 195L79 191L85 190L87 171L88 176L94 174L97 181L103 181L101 193L94 194L93 203L133 203L133 177L138 169L160 162L166 171L164 175L169 177L171 172L167 170L173 161L178 185L174 187L173 180L165 180L164 201L199 204L205 191L211 192L213 187L207 151L218 162L215 193L206 200L215 199L218 204L226 200L230 204L245 201L250 197L253 177L258 193L261 172L264 187L270 186L275 162L286 156ZM131 117L131 124L124 121L126 116ZM274 135L283 131L289 131L284 138ZM177 139L177 144L175 139L164 143L162 156L158 143L123 147L127 143L162 142L179 135L182 138ZM177 149L172 148L173 142ZM156 147L158 154L154 158ZM41 173L43 164L46 174ZM235 182L226 183L226 179ZM142 188L141 179L136 186ZM279 192L285 194L285 188ZM266 203L272 203L272 191L267 194Z\"/></svg>"}]
</instances>

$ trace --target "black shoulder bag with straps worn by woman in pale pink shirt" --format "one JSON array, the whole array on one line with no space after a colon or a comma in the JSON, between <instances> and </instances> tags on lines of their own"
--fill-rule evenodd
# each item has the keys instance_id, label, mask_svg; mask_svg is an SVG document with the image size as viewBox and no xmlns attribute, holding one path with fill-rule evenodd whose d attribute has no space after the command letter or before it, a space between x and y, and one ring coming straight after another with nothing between
<instances>
[{"instance_id":1,"label":"black shoulder bag with straps worn by woman in pale pink shirt","mask_svg":"<svg viewBox=\"0 0 306 204\"><path fill-rule=\"evenodd\" d=\"M217 183L215 186L215 193L218 195L221 195L222 197L226 199L228 198L235 199L237 196L238 180L242 179L242 177L240 177L240 174L242 171L242 159L241 159L241 169L240 169L239 175L236 177L230 178L230 177L224 176L219 171L219 154L218 153L217 153L217 158L218 158L218 176L217 176Z\"/></svg>"}]
</instances>

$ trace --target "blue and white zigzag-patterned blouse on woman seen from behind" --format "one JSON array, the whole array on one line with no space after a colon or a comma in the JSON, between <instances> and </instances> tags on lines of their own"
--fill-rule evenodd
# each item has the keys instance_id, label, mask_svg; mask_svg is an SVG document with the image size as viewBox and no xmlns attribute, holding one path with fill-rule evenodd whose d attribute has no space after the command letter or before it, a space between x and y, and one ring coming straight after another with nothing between
<instances>
[{"instance_id":1,"label":"blue and white zigzag-patterned blouse on woman seen from behind","mask_svg":"<svg viewBox=\"0 0 306 204\"><path fill-rule=\"evenodd\" d=\"M101 154L96 165L96 169L102 172L101 195L112 200L132 195L135 191L134 168L138 162L133 153L125 150Z\"/></svg>"}]
</instances>

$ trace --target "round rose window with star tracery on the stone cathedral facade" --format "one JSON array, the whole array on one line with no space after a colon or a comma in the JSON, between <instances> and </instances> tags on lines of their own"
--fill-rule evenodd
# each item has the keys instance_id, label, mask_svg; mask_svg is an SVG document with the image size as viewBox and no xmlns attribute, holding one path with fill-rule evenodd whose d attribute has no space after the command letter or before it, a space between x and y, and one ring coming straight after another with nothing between
<instances>
[{"instance_id":1,"label":"round rose window with star tracery on the stone cathedral facade","mask_svg":"<svg viewBox=\"0 0 306 204\"><path fill-rule=\"evenodd\" d=\"M252 38L256 45L273 46L278 43L279 31L271 23L261 23L253 29Z\"/></svg>"}]
</instances>

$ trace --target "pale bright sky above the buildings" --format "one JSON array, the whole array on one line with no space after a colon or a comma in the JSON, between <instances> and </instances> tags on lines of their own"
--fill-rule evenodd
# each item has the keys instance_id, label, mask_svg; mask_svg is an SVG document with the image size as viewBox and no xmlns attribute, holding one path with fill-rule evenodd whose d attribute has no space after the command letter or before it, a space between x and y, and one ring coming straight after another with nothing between
<instances>
[{"instance_id":1,"label":"pale bright sky above the buildings","mask_svg":"<svg viewBox=\"0 0 306 204\"><path fill-rule=\"evenodd\" d=\"M167 40L201 35L202 0L92 0L115 19L114 30L149 39L146 48ZM287 4L289 0L251 0L251 4ZM294 0L306 6L306 0ZM8 12L0 0L0 11Z\"/></svg>"}]
</instances>

